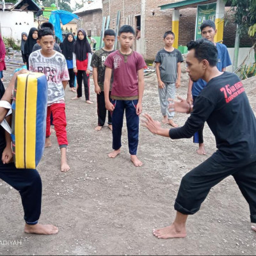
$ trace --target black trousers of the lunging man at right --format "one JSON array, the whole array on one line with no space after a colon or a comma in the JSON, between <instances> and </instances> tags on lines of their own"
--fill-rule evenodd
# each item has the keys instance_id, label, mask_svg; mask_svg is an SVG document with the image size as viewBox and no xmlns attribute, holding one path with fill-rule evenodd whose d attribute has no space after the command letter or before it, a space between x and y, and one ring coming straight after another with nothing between
<instances>
[{"instance_id":1,"label":"black trousers of the lunging man at right","mask_svg":"<svg viewBox=\"0 0 256 256\"><path fill-rule=\"evenodd\" d=\"M228 167L209 157L182 178L175 200L175 210L182 214L199 211L210 189L229 175L236 180L249 204L251 221L256 223L256 161L240 167Z\"/></svg>"}]
</instances>

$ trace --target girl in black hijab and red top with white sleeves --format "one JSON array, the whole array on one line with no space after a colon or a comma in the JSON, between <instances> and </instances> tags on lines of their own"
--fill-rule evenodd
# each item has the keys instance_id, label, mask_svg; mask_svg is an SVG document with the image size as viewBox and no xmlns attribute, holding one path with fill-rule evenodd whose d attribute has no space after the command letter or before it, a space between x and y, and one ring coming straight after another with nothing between
<instances>
[{"instance_id":1,"label":"girl in black hijab and red top with white sleeves","mask_svg":"<svg viewBox=\"0 0 256 256\"><path fill-rule=\"evenodd\" d=\"M72 100L81 99L82 83L84 82L85 102L92 104L90 101L90 85L89 76L92 70L91 67L92 50L87 40L84 29L78 29L77 40L73 44L73 67L77 77L77 97Z\"/></svg>"}]
</instances>

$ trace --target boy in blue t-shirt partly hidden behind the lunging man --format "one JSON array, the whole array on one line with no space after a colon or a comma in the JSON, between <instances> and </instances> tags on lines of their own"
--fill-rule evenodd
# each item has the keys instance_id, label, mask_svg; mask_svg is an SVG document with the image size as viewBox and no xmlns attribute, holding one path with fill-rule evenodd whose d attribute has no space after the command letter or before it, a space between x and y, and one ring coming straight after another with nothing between
<instances>
[{"instance_id":1,"label":"boy in blue t-shirt partly hidden behind the lunging man","mask_svg":"<svg viewBox=\"0 0 256 256\"><path fill-rule=\"evenodd\" d=\"M214 43L214 36L217 33L215 23L212 20L205 20L205 22L203 22L202 25L200 26L200 29L201 29L202 38L206 38L207 40ZM219 71L224 72L226 71L226 67L232 64L230 61L227 47L226 45L219 44L219 43L214 43L214 44L218 51L218 61L217 61L216 67L218 68ZM196 97L200 94L200 92L203 90L206 84L207 83L201 78L198 79L198 81L196 82L193 82L191 81L191 79L189 79L188 93L187 93L187 102L189 104L192 104L192 102L195 102ZM205 155L203 129L204 129L204 125L193 136L193 142L199 143L199 148L198 150L196 150L196 152L200 155Z\"/></svg>"}]
</instances>

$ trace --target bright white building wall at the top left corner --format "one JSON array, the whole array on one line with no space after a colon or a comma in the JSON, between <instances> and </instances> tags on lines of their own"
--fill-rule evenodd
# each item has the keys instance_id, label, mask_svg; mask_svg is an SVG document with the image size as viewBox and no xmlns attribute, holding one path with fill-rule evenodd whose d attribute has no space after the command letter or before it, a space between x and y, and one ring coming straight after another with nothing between
<instances>
[{"instance_id":1,"label":"bright white building wall at the top left corner","mask_svg":"<svg viewBox=\"0 0 256 256\"><path fill-rule=\"evenodd\" d=\"M21 33L26 32L28 34L29 29L35 27L34 13L15 10L12 12L0 11L0 26L2 36L13 38L16 44L20 45Z\"/></svg>"}]
</instances>

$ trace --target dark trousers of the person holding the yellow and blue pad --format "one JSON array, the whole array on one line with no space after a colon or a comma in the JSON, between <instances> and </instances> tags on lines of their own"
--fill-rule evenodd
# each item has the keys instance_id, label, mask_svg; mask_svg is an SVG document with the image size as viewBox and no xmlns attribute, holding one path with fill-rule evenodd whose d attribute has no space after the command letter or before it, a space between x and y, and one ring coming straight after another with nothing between
<instances>
[{"instance_id":1,"label":"dark trousers of the person holding the yellow and blue pad","mask_svg":"<svg viewBox=\"0 0 256 256\"><path fill-rule=\"evenodd\" d=\"M0 161L0 179L19 191L24 209L24 220L35 225L41 213L42 181L33 169L17 169L13 163Z\"/></svg>"}]
</instances>

